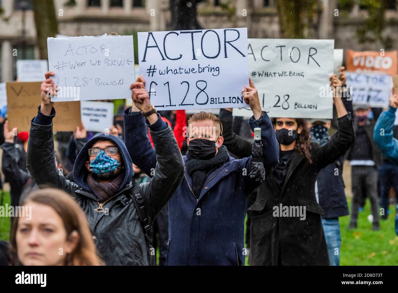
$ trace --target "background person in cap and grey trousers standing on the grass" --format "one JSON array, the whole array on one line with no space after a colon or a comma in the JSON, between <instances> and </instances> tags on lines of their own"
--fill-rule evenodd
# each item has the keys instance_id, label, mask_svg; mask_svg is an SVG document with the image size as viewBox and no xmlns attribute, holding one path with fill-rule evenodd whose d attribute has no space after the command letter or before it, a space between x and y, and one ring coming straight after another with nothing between
<instances>
[{"instance_id":1,"label":"background person in cap and grey trousers standing on the grass","mask_svg":"<svg viewBox=\"0 0 398 293\"><path fill-rule=\"evenodd\" d=\"M374 124L367 119L369 107L354 105L355 111L355 143L347 152L347 160L351 165L352 203L351 219L348 229L357 228L358 211L362 197L369 197L373 215L373 227L380 230L379 206L377 191L377 167L382 163L382 154L373 140Z\"/></svg>"}]
</instances>

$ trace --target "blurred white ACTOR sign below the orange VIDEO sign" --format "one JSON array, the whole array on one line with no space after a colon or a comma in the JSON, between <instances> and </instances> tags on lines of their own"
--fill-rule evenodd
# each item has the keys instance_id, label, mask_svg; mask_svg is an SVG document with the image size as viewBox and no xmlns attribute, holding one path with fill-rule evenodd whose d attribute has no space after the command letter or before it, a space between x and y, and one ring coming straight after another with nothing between
<instances>
[{"instance_id":1,"label":"blurred white ACTOR sign below the orange VIDEO sign","mask_svg":"<svg viewBox=\"0 0 398 293\"><path fill-rule=\"evenodd\" d=\"M346 72L347 87L353 104L386 107L391 95L392 78L387 74Z\"/></svg>"}]
</instances>

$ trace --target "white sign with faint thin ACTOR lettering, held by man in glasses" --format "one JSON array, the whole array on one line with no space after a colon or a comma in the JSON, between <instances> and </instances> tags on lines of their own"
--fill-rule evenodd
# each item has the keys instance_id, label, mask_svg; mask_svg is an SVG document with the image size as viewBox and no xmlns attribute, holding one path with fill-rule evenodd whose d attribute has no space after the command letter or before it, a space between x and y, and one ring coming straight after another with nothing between
<instances>
[{"instance_id":1,"label":"white sign with faint thin ACTOR lettering, held by man in glasses","mask_svg":"<svg viewBox=\"0 0 398 293\"><path fill-rule=\"evenodd\" d=\"M48 38L51 78L60 88L53 102L113 100L131 96L133 36Z\"/></svg>"}]
</instances>

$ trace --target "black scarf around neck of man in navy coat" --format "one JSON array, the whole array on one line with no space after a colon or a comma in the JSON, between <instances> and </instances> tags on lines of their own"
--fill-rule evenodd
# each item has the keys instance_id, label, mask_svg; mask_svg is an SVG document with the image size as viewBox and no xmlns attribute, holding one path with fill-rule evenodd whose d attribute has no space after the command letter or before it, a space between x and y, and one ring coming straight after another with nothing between
<instances>
[{"instance_id":1,"label":"black scarf around neck of man in navy coat","mask_svg":"<svg viewBox=\"0 0 398 293\"><path fill-rule=\"evenodd\" d=\"M219 167L224 162L228 160L228 150L225 146L219 147L214 158L209 160L198 160L192 158L192 156L187 152L188 162L185 165L188 174L192 177L193 183L193 194L199 197L199 194L206 183L206 172L212 170L213 168Z\"/></svg>"}]
</instances>

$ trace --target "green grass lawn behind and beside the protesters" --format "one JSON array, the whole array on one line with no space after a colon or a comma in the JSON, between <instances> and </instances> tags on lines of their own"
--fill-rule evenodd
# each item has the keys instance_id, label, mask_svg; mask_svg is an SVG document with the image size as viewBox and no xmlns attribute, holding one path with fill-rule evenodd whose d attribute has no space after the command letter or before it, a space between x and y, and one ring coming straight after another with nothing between
<instances>
[{"instance_id":1,"label":"green grass lawn behind and beside the protesters","mask_svg":"<svg viewBox=\"0 0 398 293\"><path fill-rule=\"evenodd\" d=\"M351 197L347 198L351 208ZM4 205L10 205L10 195L5 193ZM367 217L371 214L369 199L365 210L359 213L358 228L347 231L349 216L340 218L342 266L396 266L398 264L398 237L394 231L395 207L390 205L390 215L380 222L380 231L372 231ZM10 218L0 217L0 239L9 240ZM158 254L158 253L157 253ZM247 258L246 258L247 264Z\"/></svg>"}]
</instances>

